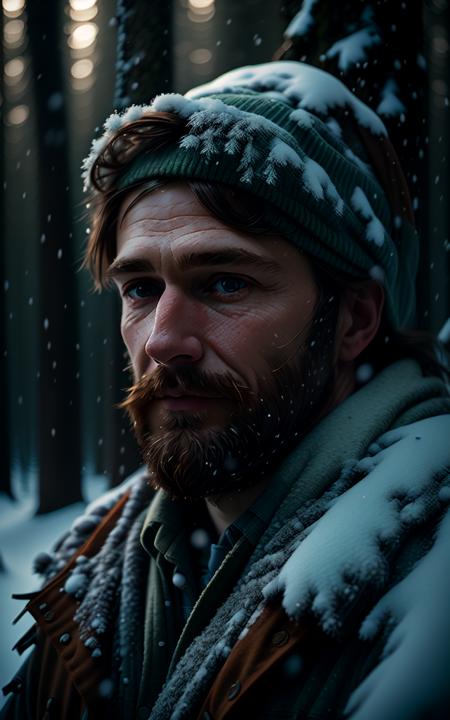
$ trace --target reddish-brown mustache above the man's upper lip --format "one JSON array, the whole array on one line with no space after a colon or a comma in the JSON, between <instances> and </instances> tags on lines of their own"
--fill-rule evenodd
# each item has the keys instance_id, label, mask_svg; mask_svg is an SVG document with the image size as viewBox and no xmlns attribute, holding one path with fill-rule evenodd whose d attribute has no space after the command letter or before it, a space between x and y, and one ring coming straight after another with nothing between
<instances>
[{"instance_id":1,"label":"reddish-brown mustache above the man's upper lip","mask_svg":"<svg viewBox=\"0 0 450 720\"><path fill-rule=\"evenodd\" d=\"M161 397L166 391L175 389L187 395L210 395L238 404L244 402L244 396L249 392L248 386L229 372L217 375L189 366L169 368L158 365L151 375L142 375L128 388L126 398L118 407L136 417L149 402Z\"/></svg>"}]
</instances>

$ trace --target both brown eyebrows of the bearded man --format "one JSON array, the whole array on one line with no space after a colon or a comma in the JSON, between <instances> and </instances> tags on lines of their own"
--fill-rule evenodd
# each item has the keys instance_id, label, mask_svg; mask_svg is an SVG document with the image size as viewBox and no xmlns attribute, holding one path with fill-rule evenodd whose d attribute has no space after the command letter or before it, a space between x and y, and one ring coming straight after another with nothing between
<instances>
[{"instance_id":1,"label":"both brown eyebrows of the bearded man","mask_svg":"<svg viewBox=\"0 0 450 720\"><path fill-rule=\"evenodd\" d=\"M276 260L240 249L185 253L177 259L176 264L182 271L196 267L245 264L271 273L281 272L281 266ZM118 258L109 266L106 276L108 280L114 280L121 275L140 272L155 272L155 267L146 258Z\"/></svg>"}]
</instances>

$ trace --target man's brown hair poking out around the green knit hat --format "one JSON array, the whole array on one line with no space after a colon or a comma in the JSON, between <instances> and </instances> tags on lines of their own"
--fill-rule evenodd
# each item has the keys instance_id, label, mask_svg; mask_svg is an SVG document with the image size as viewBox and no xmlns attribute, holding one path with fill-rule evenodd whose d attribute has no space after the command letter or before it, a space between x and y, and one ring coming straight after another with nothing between
<instances>
[{"instance_id":1,"label":"man's brown hair poking out around the green knit hat","mask_svg":"<svg viewBox=\"0 0 450 720\"><path fill-rule=\"evenodd\" d=\"M134 185L118 189L120 177L137 154L155 151L178 141L184 129L185 121L177 115L155 112L151 118L141 118L118 130L97 157L90 178L95 188L91 199L92 227L83 263L91 272L97 289L105 286L105 271L115 257L117 219L124 198L140 189L134 204L147 193L170 182L170 178L139 180ZM236 192L219 183L199 180L186 182L202 205L224 224L253 234L279 234L273 222L267 219L267 203L255 195L244 190ZM314 258L310 260L319 288L317 317L324 309L328 314L328 309L338 307L342 292L354 286L355 279L338 273ZM334 302L330 303L330 300ZM337 318L336 311L332 315ZM415 359L424 375L441 377L450 382L450 364L442 343L429 332L394 330L384 314L375 338L361 354L359 361L369 363L373 371L377 372L406 357Z\"/></svg>"}]
</instances>

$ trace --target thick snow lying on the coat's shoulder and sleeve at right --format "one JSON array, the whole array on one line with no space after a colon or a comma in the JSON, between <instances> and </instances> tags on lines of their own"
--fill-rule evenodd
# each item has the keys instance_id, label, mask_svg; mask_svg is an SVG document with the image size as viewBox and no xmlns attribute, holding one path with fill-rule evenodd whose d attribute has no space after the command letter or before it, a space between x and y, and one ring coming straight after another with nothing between
<instances>
[{"instance_id":1,"label":"thick snow lying on the coat's shoulder and sleeve at right","mask_svg":"<svg viewBox=\"0 0 450 720\"><path fill-rule=\"evenodd\" d=\"M386 433L355 471L366 474L314 525L265 593L281 592L291 617L311 609L333 632L361 590L389 581L389 559L414 527L443 516L429 552L363 621L362 639L385 630L386 643L348 703L354 720L438 717L449 701L450 416Z\"/></svg>"}]
</instances>

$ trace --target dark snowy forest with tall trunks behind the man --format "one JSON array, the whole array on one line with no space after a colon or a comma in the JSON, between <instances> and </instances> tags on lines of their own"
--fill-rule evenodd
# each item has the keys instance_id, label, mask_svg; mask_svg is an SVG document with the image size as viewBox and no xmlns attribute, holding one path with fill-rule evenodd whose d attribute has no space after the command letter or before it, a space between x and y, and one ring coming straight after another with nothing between
<instances>
[{"instance_id":1,"label":"dark snowy forest with tall trunks behind the man","mask_svg":"<svg viewBox=\"0 0 450 720\"><path fill-rule=\"evenodd\" d=\"M1 22L1 491L43 513L139 465L117 299L80 271L79 168L113 109L273 58L332 71L388 126L422 238L416 325L444 325L447 0L2 0Z\"/></svg>"}]
</instances>

